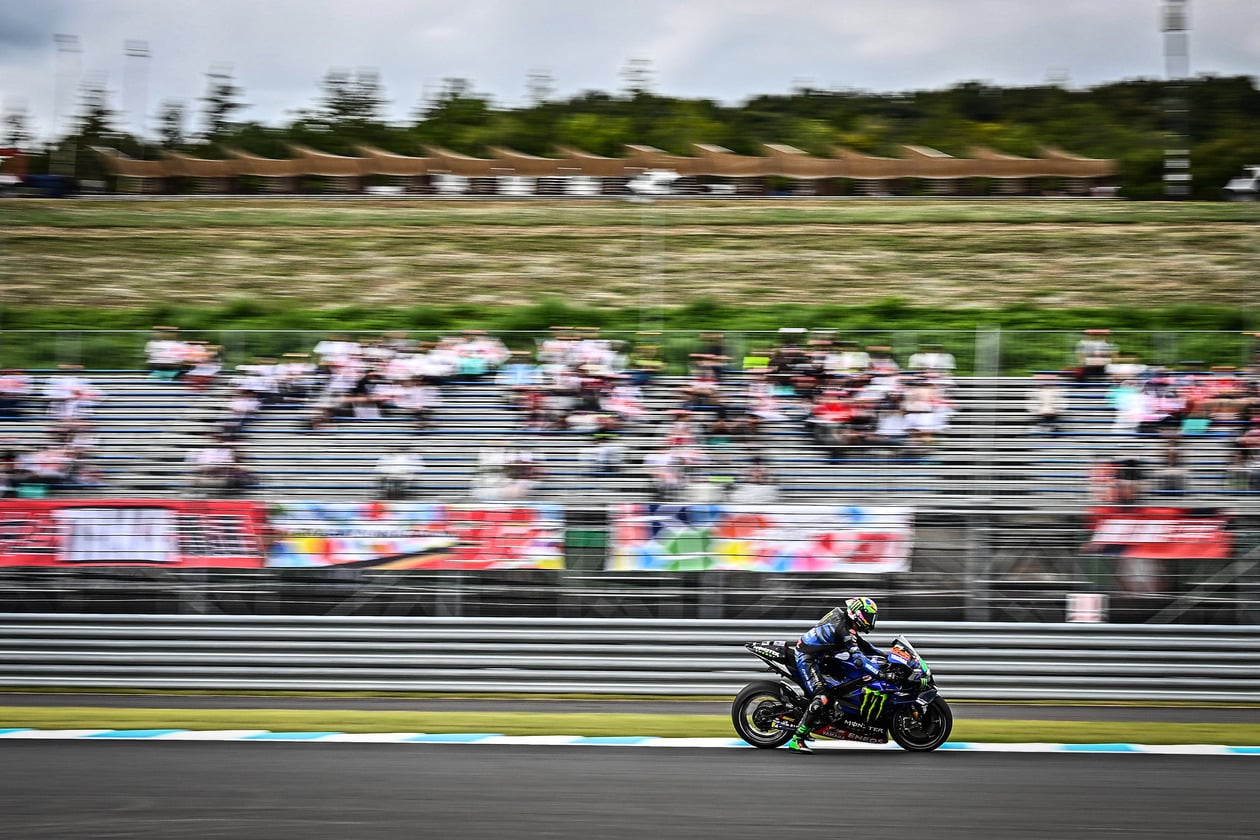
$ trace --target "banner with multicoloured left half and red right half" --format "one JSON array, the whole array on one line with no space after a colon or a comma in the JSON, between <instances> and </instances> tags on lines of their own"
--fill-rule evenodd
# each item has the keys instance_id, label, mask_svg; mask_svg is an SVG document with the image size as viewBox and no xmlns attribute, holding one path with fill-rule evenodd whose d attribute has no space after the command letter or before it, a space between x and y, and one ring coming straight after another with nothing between
<instances>
[{"instance_id":1,"label":"banner with multicoloured left half and red right half","mask_svg":"<svg viewBox=\"0 0 1260 840\"><path fill-rule=\"evenodd\" d=\"M270 521L273 567L564 568L559 505L286 502Z\"/></svg>"}]
</instances>

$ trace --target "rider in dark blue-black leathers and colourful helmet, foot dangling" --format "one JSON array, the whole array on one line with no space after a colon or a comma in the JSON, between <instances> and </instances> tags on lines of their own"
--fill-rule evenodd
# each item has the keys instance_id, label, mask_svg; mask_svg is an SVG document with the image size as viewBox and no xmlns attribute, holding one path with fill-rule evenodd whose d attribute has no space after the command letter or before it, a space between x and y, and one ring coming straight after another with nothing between
<instances>
[{"instance_id":1,"label":"rider in dark blue-black leathers and colourful helmet, foot dangling","mask_svg":"<svg viewBox=\"0 0 1260 840\"><path fill-rule=\"evenodd\" d=\"M874 630L877 612L878 607L871 598L849 598L843 606L823 616L796 642L796 669L809 691L810 701L800 725L788 742L788 749L804 754L814 752L806 739L827 704L832 701L827 693L827 680L818 667L819 656L835 656L848 660L850 665L871 676L878 674L878 666L869 659L878 651L859 635Z\"/></svg>"}]
</instances>

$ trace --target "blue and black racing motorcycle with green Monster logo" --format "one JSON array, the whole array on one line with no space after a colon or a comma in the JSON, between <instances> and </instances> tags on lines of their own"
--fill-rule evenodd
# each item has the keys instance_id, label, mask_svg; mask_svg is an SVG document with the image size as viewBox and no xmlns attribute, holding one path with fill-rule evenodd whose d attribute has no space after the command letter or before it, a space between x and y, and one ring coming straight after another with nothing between
<instances>
[{"instance_id":1,"label":"blue and black racing motorcycle with green Monster logo","mask_svg":"<svg viewBox=\"0 0 1260 840\"><path fill-rule=\"evenodd\" d=\"M760 641L745 647L784 679L743 686L731 705L731 720L746 742L774 749L791 739L809 705L795 646ZM887 654L869 659L879 669L876 675L849 664L844 654L819 657L832 703L809 737L872 744L886 744L891 737L911 752L930 752L945 743L954 729L954 714L936 693L931 669L910 641L897 636Z\"/></svg>"}]
</instances>

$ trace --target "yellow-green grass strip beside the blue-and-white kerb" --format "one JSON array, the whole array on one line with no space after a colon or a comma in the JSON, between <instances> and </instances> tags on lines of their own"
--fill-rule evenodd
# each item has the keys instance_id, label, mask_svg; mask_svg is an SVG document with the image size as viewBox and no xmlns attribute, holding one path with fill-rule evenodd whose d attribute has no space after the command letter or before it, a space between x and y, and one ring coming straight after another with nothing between
<instances>
[{"instance_id":1,"label":"yellow-green grass strip beside the blue-and-white kerb","mask_svg":"<svg viewBox=\"0 0 1260 840\"><path fill-rule=\"evenodd\" d=\"M0 727L35 729L271 729L276 732L495 732L508 735L735 737L727 715L101 709L0 707ZM953 741L1260 746L1260 724L966 720Z\"/></svg>"}]
</instances>

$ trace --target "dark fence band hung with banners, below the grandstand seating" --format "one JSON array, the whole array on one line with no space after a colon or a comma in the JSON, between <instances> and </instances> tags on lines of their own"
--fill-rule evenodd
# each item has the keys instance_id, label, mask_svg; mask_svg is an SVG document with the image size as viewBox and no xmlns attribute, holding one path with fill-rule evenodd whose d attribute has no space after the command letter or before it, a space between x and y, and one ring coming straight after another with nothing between
<instances>
[{"instance_id":1,"label":"dark fence band hung with banners, below the grandstand seating","mask_svg":"<svg viewBox=\"0 0 1260 840\"><path fill-rule=\"evenodd\" d=\"M877 505L0 501L0 611L1260 623L1260 524Z\"/></svg>"}]
</instances>

